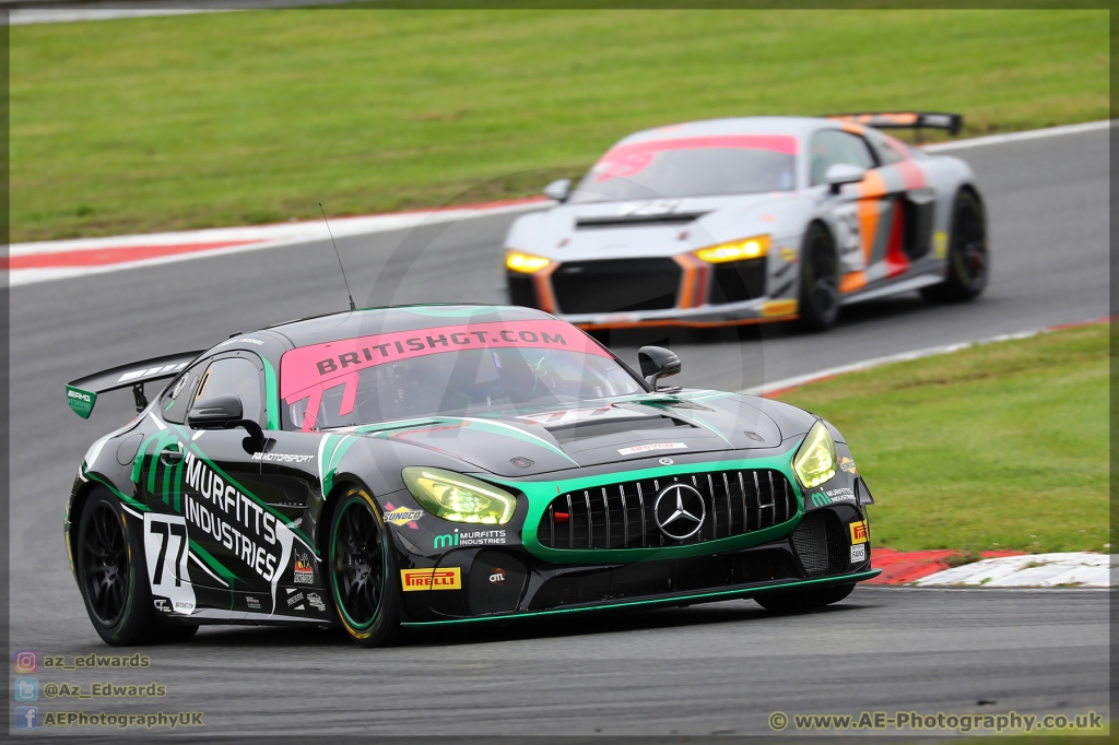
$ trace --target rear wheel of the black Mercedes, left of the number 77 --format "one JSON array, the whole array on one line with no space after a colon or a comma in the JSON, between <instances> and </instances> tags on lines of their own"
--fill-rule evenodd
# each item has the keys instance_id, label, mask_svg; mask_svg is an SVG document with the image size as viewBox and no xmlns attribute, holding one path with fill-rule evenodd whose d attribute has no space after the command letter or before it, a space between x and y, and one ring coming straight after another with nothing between
<instances>
[{"instance_id":1,"label":"rear wheel of the black Mercedes, left of the number 77","mask_svg":"<svg viewBox=\"0 0 1119 745\"><path fill-rule=\"evenodd\" d=\"M78 588L90 621L106 644L187 641L197 625L169 625L156 613L148 584L142 522L109 490L94 490L77 532Z\"/></svg>"}]
</instances>

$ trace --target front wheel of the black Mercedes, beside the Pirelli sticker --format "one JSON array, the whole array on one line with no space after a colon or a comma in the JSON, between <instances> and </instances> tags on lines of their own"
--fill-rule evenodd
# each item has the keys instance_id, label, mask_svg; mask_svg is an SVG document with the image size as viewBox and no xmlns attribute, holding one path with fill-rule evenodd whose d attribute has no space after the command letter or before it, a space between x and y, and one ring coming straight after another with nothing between
<instances>
[{"instance_id":1,"label":"front wheel of the black Mercedes, beside the Pirelli sticker","mask_svg":"<svg viewBox=\"0 0 1119 745\"><path fill-rule=\"evenodd\" d=\"M380 508L351 487L330 519L330 595L346 632L360 647L387 644L401 625L401 590Z\"/></svg>"}]
</instances>

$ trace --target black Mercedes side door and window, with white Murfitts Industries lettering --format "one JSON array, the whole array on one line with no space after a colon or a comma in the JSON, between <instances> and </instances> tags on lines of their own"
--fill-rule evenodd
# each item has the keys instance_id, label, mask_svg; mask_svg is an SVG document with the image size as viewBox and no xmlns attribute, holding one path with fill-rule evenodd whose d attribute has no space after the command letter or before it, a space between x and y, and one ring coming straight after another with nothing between
<instances>
[{"instance_id":1,"label":"black Mercedes side door and window, with white Murfitts Industries lettering","mask_svg":"<svg viewBox=\"0 0 1119 745\"><path fill-rule=\"evenodd\" d=\"M263 427L264 370L260 358L246 351L213 358L199 376L190 405L223 395L237 396L243 418ZM168 413L182 414L179 408L177 402ZM177 430L184 440L178 483L182 512L191 549L203 565L191 576L235 592L271 594L290 558L292 534L283 516L260 497L261 462L254 458L258 444L243 427L191 427L189 413Z\"/></svg>"}]
</instances>

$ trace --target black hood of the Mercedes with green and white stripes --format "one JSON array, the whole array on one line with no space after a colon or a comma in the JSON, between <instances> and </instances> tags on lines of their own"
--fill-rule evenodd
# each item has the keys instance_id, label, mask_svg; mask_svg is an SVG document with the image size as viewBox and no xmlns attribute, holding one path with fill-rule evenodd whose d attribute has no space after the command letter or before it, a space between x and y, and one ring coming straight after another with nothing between
<instances>
[{"instance_id":1,"label":"black hood of the Mercedes with green and white stripes","mask_svg":"<svg viewBox=\"0 0 1119 745\"><path fill-rule=\"evenodd\" d=\"M463 470L517 478L657 455L765 451L803 434L814 421L775 402L680 390L482 416L432 416L348 433L429 452L430 458L415 453L417 465L450 458L463 462Z\"/></svg>"}]
</instances>

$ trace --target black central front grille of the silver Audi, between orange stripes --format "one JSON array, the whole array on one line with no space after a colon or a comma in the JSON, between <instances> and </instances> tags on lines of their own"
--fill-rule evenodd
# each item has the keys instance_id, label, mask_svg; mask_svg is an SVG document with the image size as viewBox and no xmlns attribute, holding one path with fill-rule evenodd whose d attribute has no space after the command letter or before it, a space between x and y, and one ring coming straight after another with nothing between
<instances>
[{"instance_id":1,"label":"black central front grille of the silver Audi, between orange stripes","mask_svg":"<svg viewBox=\"0 0 1119 745\"><path fill-rule=\"evenodd\" d=\"M615 313L676 307L680 265L671 258L562 264L552 289L563 313Z\"/></svg>"}]
</instances>

